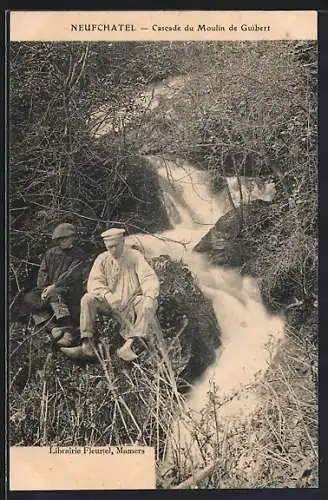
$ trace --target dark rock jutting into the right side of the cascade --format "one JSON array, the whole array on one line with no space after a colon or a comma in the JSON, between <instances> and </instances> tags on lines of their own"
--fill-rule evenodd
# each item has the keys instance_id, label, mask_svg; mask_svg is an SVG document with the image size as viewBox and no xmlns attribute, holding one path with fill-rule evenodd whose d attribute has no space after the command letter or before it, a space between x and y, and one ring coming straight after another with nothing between
<instances>
[{"instance_id":1,"label":"dark rock jutting into the right side of the cascade","mask_svg":"<svg viewBox=\"0 0 328 500\"><path fill-rule=\"evenodd\" d=\"M242 267L256 251L255 235L268 224L270 204L255 200L230 210L197 243L194 251L207 254L212 264Z\"/></svg>"}]
</instances>

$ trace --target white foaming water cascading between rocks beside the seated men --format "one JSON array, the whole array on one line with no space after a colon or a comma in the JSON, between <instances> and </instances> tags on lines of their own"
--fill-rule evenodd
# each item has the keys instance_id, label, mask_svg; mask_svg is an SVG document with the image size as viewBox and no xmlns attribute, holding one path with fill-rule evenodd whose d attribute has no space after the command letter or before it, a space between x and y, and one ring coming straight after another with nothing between
<instances>
[{"instance_id":1,"label":"white foaming water cascading between rocks beside the seated men","mask_svg":"<svg viewBox=\"0 0 328 500\"><path fill-rule=\"evenodd\" d=\"M149 157L149 161L157 169L164 203L174 228L154 235L133 235L127 238L127 243L137 245L148 257L169 255L187 264L204 295L212 300L221 329L222 343L216 353L216 362L195 384L187 401L197 414L206 404L211 383L215 383L218 393L225 398L264 373L283 339L284 321L267 313L254 279L241 276L236 270L210 265L204 255L192 251L229 209L226 193L214 195L208 173L186 162L154 156ZM229 187L234 201L238 202L239 186L234 179L230 179ZM243 198L248 200L270 201L274 195L272 184L259 189L244 179L242 188ZM253 403L256 404L256 399ZM218 415L224 418L243 413L245 416L250 411L252 405L248 394L244 400L232 398L230 404L218 410ZM176 423L176 433L179 433L180 443L190 447L191 436L182 422Z\"/></svg>"}]
</instances>

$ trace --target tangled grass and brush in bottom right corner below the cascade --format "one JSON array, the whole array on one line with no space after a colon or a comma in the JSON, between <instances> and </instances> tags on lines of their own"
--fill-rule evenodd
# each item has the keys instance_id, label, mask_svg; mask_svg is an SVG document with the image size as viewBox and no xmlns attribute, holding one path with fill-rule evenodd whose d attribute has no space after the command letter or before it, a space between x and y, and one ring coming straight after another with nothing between
<instances>
[{"instance_id":1,"label":"tangled grass and brush in bottom right corner below the cascade","mask_svg":"<svg viewBox=\"0 0 328 500\"><path fill-rule=\"evenodd\" d=\"M193 436L190 446L198 450L202 468L195 471L190 453L183 450L176 454L174 473L164 479L165 486L317 487L317 362L316 346L299 332L287 329L283 348L263 379L254 382L251 392L244 387L232 401L222 401L220 391L212 384L200 418L195 422L193 415L186 417ZM259 401L248 413L252 398L248 400L247 395L253 391ZM239 398L246 402L245 414L231 415L229 403ZM213 463L214 470L206 473Z\"/></svg>"}]
</instances>

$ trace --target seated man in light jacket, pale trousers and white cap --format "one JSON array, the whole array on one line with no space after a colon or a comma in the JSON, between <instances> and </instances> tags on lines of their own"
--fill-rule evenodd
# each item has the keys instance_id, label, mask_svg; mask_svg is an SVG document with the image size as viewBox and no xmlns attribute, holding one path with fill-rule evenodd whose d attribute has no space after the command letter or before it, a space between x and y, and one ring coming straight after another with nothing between
<instances>
[{"instance_id":1,"label":"seated man in light jacket, pale trousers and white cap","mask_svg":"<svg viewBox=\"0 0 328 500\"><path fill-rule=\"evenodd\" d=\"M127 361L137 356L131 349L135 337L149 338L157 310L159 281L143 255L125 245L124 229L101 234L106 251L98 255L89 274L87 293L81 300L82 346L62 351L67 355L94 356L98 313L112 315L120 323L125 344L117 354Z\"/></svg>"}]
</instances>

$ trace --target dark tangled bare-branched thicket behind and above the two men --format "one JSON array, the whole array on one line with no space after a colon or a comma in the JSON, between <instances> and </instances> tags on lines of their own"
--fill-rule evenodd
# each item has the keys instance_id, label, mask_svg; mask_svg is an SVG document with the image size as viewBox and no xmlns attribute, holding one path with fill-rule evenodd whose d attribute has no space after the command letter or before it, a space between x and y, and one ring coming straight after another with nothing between
<instances>
[{"instance_id":1,"label":"dark tangled bare-branched thicket behind and above the two men","mask_svg":"<svg viewBox=\"0 0 328 500\"><path fill-rule=\"evenodd\" d=\"M124 130L96 140L88 128L94 108L110 102L113 117L151 80L147 65L144 73L139 69L135 50L133 44L11 45L13 295L35 274L54 225L62 220L77 224L86 245L116 223L129 232L169 227L157 177L126 143ZM129 78L123 78L122 67ZM137 120L138 107L134 114Z\"/></svg>"}]
</instances>

